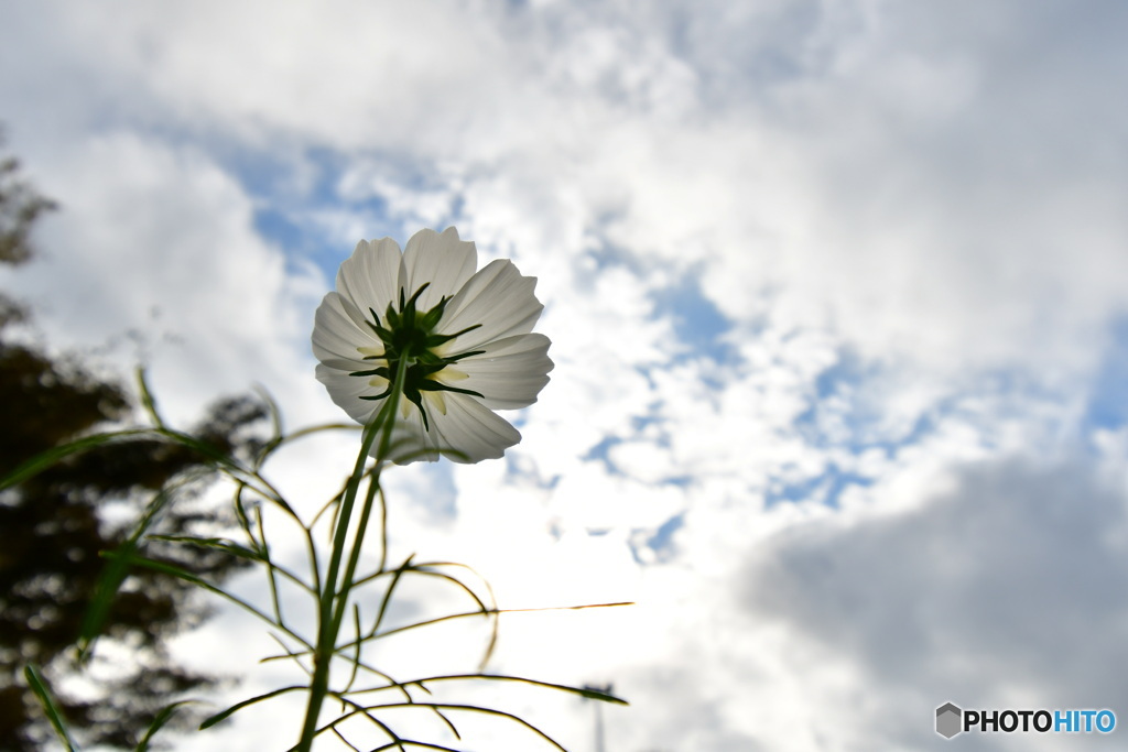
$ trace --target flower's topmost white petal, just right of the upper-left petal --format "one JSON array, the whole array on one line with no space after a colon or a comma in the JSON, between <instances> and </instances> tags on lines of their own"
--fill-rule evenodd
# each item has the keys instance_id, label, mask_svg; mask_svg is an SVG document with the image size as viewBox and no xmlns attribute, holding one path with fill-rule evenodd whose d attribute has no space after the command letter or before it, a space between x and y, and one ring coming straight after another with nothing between
<instances>
[{"instance_id":1,"label":"flower's topmost white petal, just right of the upper-left petal","mask_svg":"<svg viewBox=\"0 0 1128 752\"><path fill-rule=\"evenodd\" d=\"M418 298L416 308L429 311L446 295L452 298L478 267L478 251L473 242L458 239L458 230L450 227L439 235L434 230L420 230L404 249L407 269L406 291L414 294L424 283L430 286Z\"/></svg>"}]
</instances>

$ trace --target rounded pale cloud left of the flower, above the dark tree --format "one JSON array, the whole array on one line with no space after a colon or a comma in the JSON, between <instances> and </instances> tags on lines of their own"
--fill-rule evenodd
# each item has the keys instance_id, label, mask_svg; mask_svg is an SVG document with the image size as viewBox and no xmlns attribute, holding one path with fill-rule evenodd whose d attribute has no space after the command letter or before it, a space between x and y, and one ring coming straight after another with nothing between
<instances>
[{"instance_id":1,"label":"rounded pale cloud left of the flower, above the dark tree","mask_svg":"<svg viewBox=\"0 0 1128 752\"><path fill-rule=\"evenodd\" d=\"M10 274L56 345L151 366L174 419L254 383L316 393L297 384L321 275L255 233L250 198L206 156L118 133L38 167L63 210L37 263Z\"/></svg>"}]
</instances>

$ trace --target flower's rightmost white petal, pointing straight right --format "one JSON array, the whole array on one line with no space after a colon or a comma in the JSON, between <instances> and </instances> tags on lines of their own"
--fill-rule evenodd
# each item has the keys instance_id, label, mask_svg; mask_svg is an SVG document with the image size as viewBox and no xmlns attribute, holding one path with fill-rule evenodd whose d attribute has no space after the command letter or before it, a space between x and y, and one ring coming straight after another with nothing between
<instances>
[{"instance_id":1,"label":"flower's rightmost white petal, pointing straight right","mask_svg":"<svg viewBox=\"0 0 1128 752\"><path fill-rule=\"evenodd\" d=\"M548 383L547 374L553 370L548 345L548 337L543 334L521 334L486 343L481 347L483 354L451 366L469 378L450 386L478 392L490 409L528 407L537 401L537 393Z\"/></svg>"}]
</instances>

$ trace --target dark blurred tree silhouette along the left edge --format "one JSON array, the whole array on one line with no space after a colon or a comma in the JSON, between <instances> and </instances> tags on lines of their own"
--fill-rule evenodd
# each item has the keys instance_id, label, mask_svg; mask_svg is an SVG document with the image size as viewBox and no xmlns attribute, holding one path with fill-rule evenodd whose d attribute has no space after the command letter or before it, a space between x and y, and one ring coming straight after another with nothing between
<instances>
[{"instance_id":1,"label":"dark blurred tree silhouette along the left edge","mask_svg":"<svg viewBox=\"0 0 1128 752\"><path fill-rule=\"evenodd\" d=\"M53 209L20 179L16 160L0 161L0 262L30 259L33 225ZM120 425L136 412L124 388L95 378L76 356L14 342L12 325L26 315L0 293L0 477L44 450ZM227 399L192 433L221 452L249 455L261 446L256 428L264 416L257 400ZM51 736L23 682L27 663L38 664L53 683L77 735L130 749L161 707L215 680L176 665L166 649L169 636L208 617L192 587L134 569L102 631L104 639L127 647L130 662L115 661L115 675L97 697L58 691L58 680L78 670L73 646L107 564L99 554L124 540L153 494L177 481L159 522L161 533L206 534L227 522L222 507L201 497L214 477L203 475L206 469L205 458L184 444L146 437L71 455L0 493L0 750L37 750ZM107 514L112 510L116 513ZM239 566L212 549L147 545L144 554L212 581Z\"/></svg>"}]
</instances>

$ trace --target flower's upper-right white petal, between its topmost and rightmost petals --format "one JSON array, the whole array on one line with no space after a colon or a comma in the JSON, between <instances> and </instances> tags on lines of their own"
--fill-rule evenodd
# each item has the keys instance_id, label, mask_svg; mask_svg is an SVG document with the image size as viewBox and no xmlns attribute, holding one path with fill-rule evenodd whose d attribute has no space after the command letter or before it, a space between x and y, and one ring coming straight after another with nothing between
<instances>
[{"instance_id":1,"label":"flower's upper-right white petal, between its topmost and rightmost petals","mask_svg":"<svg viewBox=\"0 0 1128 752\"><path fill-rule=\"evenodd\" d=\"M453 334L481 326L447 343L443 352L465 353L494 339L531 331L545 308L532 294L536 286L537 278L522 276L512 262L487 264L447 304L438 330Z\"/></svg>"}]
</instances>

